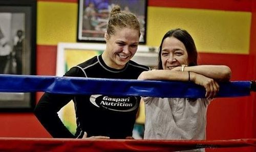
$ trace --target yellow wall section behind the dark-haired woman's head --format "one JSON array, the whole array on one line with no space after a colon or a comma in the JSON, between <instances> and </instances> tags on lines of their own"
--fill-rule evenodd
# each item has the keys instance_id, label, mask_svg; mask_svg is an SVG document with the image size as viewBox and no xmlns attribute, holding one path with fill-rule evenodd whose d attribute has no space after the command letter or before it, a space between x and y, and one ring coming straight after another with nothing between
<instances>
[{"instance_id":1,"label":"yellow wall section behind the dark-haired woman's head","mask_svg":"<svg viewBox=\"0 0 256 152\"><path fill-rule=\"evenodd\" d=\"M186 29L200 52L249 53L250 12L148 7L147 45L173 28Z\"/></svg>"}]
</instances>

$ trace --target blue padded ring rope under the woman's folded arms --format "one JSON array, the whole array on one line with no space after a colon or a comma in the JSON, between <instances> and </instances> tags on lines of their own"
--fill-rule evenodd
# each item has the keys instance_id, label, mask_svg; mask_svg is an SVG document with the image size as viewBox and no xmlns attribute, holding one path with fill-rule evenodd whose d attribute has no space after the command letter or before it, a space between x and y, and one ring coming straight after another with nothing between
<instances>
[{"instance_id":1,"label":"blue padded ring rope under the woman's folded arms","mask_svg":"<svg viewBox=\"0 0 256 152\"><path fill-rule=\"evenodd\" d=\"M220 83L217 97L248 96L250 95L250 85L250 81ZM0 92L49 92L172 98L205 97L205 89L192 82L4 74L0 74Z\"/></svg>"}]
</instances>

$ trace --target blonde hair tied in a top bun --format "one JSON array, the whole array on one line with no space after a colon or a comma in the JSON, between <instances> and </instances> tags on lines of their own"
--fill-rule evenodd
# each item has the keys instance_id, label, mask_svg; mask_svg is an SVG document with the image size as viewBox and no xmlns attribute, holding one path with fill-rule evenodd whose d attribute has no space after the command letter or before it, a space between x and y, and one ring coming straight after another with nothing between
<instances>
[{"instance_id":1,"label":"blonde hair tied in a top bun","mask_svg":"<svg viewBox=\"0 0 256 152\"><path fill-rule=\"evenodd\" d=\"M120 6L116 5L113 7L110 13L108 26L106 27L106 33L114 35L116 28L131 28L138 31L140 36L140 23L138 18L130 12L121 11Z\"/></svg>"}]
</instances>

